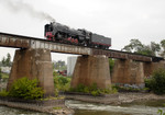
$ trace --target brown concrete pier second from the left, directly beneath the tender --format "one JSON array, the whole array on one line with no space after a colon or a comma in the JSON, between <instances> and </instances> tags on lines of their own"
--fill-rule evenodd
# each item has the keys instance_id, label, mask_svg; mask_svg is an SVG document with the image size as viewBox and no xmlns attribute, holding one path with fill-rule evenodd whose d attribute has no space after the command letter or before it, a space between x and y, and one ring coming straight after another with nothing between
<instances>
[{"instance_id":1,"label":"brown concrete pier second from the left, directly beneath the tender","mask_svg":"<svg viewBox=\"0 0 165 115\"><path fill-rule=\"evenodd\" d=\"M106 56L79 56L75 66L72 88L78 84L91 85L105 89L111 85L109 58Z\"/></svg>"}]
</instances>

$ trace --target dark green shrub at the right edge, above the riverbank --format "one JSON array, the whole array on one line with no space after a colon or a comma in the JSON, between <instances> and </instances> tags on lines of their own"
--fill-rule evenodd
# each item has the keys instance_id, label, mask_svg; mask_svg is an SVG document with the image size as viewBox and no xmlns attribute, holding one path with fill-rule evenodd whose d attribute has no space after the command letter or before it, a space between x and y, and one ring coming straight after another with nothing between
<instances>
[{"instance_id":1,"label":"dark green shrub at the right edge, above the riverbank","mask_svg":"<svg viewBox=\"0 0 165 115\"><path fill-rule=\"evenodd\" d=\"M154 71L152 78L145 80L145 87L156 94L165 94L165 70Z\"/></svg>"}]
</instances>

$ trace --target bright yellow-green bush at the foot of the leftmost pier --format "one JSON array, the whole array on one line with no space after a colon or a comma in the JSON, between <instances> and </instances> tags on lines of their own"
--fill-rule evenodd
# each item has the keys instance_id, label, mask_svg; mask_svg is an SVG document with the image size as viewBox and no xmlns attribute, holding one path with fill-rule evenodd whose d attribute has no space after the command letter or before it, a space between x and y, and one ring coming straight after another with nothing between
<instances>
[{"instance_id":1,"label":"bright yellow-green bush at the foot of the leftmost pier","mask_svg":"<svg viewBox=\"0 0 165 115\"><path fill-rule=\"evenodd\" d=\"M38 81L36 79L29 80L28 78L21 78L16 80L9 91L9 96L36 100L43 97L44 91L38 88Z\"/></svg>"}]
</instances>

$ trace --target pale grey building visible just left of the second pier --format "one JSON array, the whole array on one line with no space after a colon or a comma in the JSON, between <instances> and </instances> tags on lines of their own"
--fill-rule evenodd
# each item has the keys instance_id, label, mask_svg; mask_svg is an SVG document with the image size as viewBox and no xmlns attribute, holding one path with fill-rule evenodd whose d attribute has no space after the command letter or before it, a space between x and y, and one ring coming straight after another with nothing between
<instances>
[{"instance_id":1,"label":"pale grey building visible just left of the second pier","mask_svg":"<svg viewBox=\"0 0 165 115\"><path fill-rule=\"evenodd\" d=\"M67 76L68 77L73 76L76 61L77 61L76 56L72 56L67 58Z\"/></svg>"}]
</instances>

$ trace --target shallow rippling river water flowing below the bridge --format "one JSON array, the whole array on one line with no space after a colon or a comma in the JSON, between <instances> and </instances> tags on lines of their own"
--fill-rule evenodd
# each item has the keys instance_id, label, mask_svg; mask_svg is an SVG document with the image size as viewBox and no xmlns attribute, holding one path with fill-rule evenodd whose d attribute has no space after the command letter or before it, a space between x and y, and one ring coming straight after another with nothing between
<instances>
[{"instance_id":1,"label":"shallow rippling river water flowing below the bridge","mask_svg":"<svg viewBox=\"0 0 165 115\"><path fill-rule=\"evenodd\" d=\"M142 101L122 105L91 104L67 100L66 105L75 110L74 115L158 115L157 110L165 110L165 101ZM0 115L48 115L44 113L0 106Z\"/></svg>"}]
</instances>

